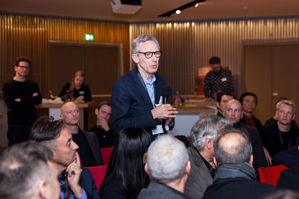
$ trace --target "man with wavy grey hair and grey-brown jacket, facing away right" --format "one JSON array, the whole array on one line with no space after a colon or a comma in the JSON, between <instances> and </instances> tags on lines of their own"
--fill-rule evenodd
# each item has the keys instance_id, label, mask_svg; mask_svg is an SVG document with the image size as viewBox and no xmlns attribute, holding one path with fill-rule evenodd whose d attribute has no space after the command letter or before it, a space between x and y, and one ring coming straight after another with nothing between
<instances>
[{"instance_id":1,"label":"man with wavy grey hair and grey-brown jacket, facing away right","mask_svg":"<svg viewBox=\"0 0 299 199\"><path fill-rule=\"evenodd\" d=\"M205 189L213 183L216 173L214 158L214 141L223 127L231 123L219 115L207 114L193 125L188 140L188 155L191 172L186 182L185 194L191 198L202 198Z\"/></svg>"}]
</instances>

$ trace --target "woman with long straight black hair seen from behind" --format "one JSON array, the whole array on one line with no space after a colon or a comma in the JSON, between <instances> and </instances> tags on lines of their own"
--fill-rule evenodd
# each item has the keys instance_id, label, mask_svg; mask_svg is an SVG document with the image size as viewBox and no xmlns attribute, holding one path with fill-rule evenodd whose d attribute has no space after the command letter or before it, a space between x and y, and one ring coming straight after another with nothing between
<instances>
[{"instance_id":1,"label":"woman with long straight black hair seen from behind","mask_svg":"<svg viewBox=\"0 0 299 199\"><path fill-rule=\"evenodd\" d=\"M144 154L150 143L149 133L141 128L126 127L118 133L100 186L102 199L137 198L141 189L147 187Z\"/></svg>"}]
</instances>

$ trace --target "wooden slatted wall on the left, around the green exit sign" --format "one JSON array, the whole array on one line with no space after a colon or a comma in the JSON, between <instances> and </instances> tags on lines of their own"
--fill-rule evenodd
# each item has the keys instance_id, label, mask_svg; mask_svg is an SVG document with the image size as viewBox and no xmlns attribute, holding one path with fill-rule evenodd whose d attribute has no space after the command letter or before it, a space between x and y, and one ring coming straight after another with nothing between
<instances>
[{"instance_id":1,"label":"wooden slatted wall on the left, around the green exit sign","mask_svg":"<svg viewBox=\"0 0 299 199\"><path fill-rule=\"evenodd\" d=\"M124 72L129 71L129 24L0 13L0 85L15 75L15 59L25 55L32 61L28 78L49 98L48 41L84 42L85 33L94 34L88 42L123 44Z\"/></svg>"}]
</instances>

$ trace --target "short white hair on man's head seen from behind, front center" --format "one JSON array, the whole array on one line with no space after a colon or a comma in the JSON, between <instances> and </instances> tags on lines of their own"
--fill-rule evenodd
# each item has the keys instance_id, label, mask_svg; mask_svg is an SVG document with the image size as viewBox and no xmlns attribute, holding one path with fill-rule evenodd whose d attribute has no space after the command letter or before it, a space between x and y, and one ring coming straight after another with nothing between
<instances>
[{"instance_id":1,"label":"short white hair on man's head seen from behind, front center","mask_svg":"<svg viewBox=\"0 0 299 199\"><path fill-rule=\"evenodd\" d=\"M171 135L162 135L149 146L147 164L152 180L167 183L184 175L189 160L186 146Z\"/></svg>"}]
</instances>

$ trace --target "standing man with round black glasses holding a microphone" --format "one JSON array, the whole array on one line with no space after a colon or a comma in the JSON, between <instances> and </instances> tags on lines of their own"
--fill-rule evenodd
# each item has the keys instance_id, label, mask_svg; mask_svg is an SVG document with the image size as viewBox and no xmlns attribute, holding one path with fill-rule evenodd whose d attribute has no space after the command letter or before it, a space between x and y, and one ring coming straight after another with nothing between
<instances>
[{"instance_id":1,"label":"standing man with round black glasses holding a microphone","mask_svg":"<svg viewBox=\"0 0 299 199\"><path fill-rule=\"evenodd\" d=\"M170 130L178 113L170 104L159 104L165 81L157 72L162 52L152 35L140 35L132 41L132 59L137 66L119 78L112 87L112 129L116 134L129 126L141 127L152 139L164 132L161 119ZM166 128L167 130L167 128Z\"/></svg>"}]
</instances>

